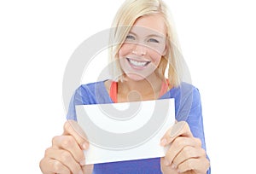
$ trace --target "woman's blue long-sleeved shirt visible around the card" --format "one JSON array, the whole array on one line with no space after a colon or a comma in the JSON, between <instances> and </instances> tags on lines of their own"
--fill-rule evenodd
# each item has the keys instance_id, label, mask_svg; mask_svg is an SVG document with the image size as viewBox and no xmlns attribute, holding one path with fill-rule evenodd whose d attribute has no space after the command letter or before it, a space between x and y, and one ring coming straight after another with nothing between
<instances>
[{"instance_id":1,"label":"woman's blue long-sleeved shirt visible around the card","mask_svg":"<svg viewBox=\"0 0 256 174\"><path fill-rule=\"evenodd\" d=\"M186 121L193 136L200 138L202 148L206 149L199 91L191 84L182 83L179 87L168 90L159 100L167 98L175 99L175 118L177 121ZM77 120L76 105L104 103L113 103L104 81L82 84L71 99L67 119ZM209 170L207 173L210 172ZM96 164L93 173L161 173L160 158Z\"/></svg>"}]
</instances>

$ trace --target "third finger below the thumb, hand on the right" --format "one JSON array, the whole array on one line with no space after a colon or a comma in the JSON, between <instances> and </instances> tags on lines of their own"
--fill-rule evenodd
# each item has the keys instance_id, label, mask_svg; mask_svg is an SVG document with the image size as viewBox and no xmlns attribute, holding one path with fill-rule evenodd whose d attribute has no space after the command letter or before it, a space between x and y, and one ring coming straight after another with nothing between
<instances>
[{"instance_id":1,"label":"third finger below the thumb, hand on the right","mask_svg":"<svg viewBox=\"0 0 256 174\"><path fill-rule=\"evenodd\" d=\"M196 173L206 173L209 169L210 163L206 157L201 157L198 159L187 159L177 166L177 171L195 171Z\"/></svg>"}]
</instances>

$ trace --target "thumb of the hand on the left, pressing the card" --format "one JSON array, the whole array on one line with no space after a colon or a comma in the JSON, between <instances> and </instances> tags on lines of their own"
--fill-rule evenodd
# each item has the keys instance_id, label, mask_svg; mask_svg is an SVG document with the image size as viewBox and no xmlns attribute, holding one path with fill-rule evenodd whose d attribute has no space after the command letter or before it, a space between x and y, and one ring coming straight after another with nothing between
<instances>
[{"instance_id":1,"label":"thumb of the hand on the left, pressing the card","mask_svg":"<svg viewBox=\"0 0 256 174\"><path fill-rule=\"evenodd\" d=\"M64 124L63 135L73 136L76 142L78 142L81 149L87 149L89 142L87 136L79 124L74 120L67 120Z\"/></svg>"}]
</instances>

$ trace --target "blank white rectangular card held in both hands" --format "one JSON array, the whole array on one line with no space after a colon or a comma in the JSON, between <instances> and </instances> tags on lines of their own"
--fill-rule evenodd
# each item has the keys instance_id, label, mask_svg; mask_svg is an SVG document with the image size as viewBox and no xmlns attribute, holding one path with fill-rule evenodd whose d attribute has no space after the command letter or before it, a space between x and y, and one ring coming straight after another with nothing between
<instances>
[{"instance_id":1,"label":"blank white rectangular card held in both hands","mask_svg":"<svg viewBox=\"0 0 256 174\"><path fill-rule=\"evenodd\" d=\"M163 157L160 139L175 123L174 99L76 106L90 147L86 164Z\"/></svg>"}]
</instances>

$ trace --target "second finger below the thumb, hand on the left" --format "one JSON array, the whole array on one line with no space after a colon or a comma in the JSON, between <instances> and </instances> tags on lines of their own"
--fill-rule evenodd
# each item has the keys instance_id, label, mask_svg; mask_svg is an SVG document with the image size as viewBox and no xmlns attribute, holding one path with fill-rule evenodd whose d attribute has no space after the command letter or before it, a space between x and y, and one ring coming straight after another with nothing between
<instances>
[{"instance_id":1,"label":"second finger below the thumb, hand on the left","mask_svg":"<svg viewBox=\"0 0 256 174\"><path fill-rule=\"evenodd\" d=\"M67 166L69 171L72 171L72 173L83 173L79 163L73 159L73 155L66 150L48 148L45 152L45 156L49 157L50 159L56 159L60 161L61 164Z\"/></svg>"}]
</instances>

